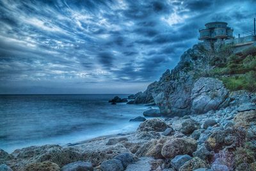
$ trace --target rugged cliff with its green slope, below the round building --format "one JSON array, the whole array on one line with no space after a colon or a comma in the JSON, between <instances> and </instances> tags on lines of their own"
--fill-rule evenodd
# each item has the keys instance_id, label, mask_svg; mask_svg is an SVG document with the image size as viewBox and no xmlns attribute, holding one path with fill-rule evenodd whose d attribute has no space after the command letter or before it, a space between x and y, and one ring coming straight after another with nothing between
<instances>
[{"instance_id":1,"label":"rugged cliff with its green slope, below the round building","mask_svg":"<svg viewBox=\"0 0 256 171\"><path fill-rule=\"evenodd\" d=\"M222 45L212 51L204 44L194 45L172 71L166 70L158 82L132 96L129 103L154 102L164 116L204 114L227 107L233 99L231 92L256 91L255 55L255 47L237 51Z\"/></svg>"}]
</instances>

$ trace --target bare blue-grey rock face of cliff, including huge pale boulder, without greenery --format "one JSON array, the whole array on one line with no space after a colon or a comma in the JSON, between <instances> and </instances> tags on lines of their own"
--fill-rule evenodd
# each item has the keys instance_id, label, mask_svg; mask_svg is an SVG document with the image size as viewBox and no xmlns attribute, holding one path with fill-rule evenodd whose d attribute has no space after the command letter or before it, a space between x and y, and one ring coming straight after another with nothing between
<instances>
[{"instance_id":1,"label":"bare blue-grey rock face of cliff, including huge pale boulder, without greenery","mask_svg":"<svg viewBox=\"0 0 256 171\"><path fill-rule=\"evenodd\" d=\"M166 70L158 82L136 94L134 103L154 101L166 116L202 114L228 105L228 91L220 80L198 78L209 70L209 58L202 45L194 45L180 57L172 70Z\"/></svg>"}]
</instances>

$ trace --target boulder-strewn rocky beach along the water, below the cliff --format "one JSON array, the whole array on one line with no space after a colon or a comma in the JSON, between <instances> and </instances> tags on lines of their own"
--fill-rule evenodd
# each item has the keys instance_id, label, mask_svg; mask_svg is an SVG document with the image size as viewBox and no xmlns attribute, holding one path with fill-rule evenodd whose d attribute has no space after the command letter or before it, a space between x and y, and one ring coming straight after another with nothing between
<instances>
[{"instance_id":1,"label":"boulder-strewn rocky beach along the water, below the cliff","mask_svg":"<svg viewBox=\"0 0 256 171\"><path fill-rule=\"evenodd\" d=\"M136 132L1 150L0 170L255 170L256 105L147 119Z\"/></svg>"}]
</instances>

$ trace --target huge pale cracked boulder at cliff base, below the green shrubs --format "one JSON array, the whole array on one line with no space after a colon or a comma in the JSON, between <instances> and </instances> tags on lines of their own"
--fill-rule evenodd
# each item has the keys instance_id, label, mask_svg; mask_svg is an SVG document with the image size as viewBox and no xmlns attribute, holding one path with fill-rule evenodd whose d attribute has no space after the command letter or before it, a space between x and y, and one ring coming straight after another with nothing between
<instances>
[{"instance_id":1,"label":"huge pale cracked boulder at cliff base, below the green shrubs","mask_svg":"<svg viewBox=\"0 0 256 171\"><path fill-rule=\"evenodd\" d=\"M195 114L204 114L209 110L218 110L227 107L230 99L228 90L223 83L216 78L199 78L191 92L191 110Z\"/></svg>"}]
</instances>

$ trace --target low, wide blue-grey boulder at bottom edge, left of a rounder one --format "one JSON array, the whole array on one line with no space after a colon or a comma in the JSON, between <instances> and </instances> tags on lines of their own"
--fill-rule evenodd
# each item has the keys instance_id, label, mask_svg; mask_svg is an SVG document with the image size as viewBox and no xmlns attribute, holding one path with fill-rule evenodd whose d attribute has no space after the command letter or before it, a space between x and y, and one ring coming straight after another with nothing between
<instances>
[{"instance_id":1,"label":"low, wide blue-grey boulder at bottom edge, left of a rounder one","mask_svg":"<svg viewBox=\"0 0 256 171\"><path fill-rule=\"evenodd\" d=\"M92 163L76 161L69 163L61 168L61 171L93 171Z\"/></svg>"}]
</instances>

